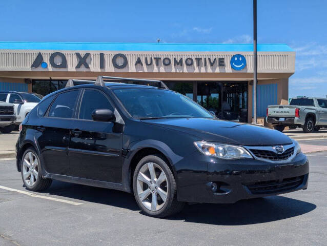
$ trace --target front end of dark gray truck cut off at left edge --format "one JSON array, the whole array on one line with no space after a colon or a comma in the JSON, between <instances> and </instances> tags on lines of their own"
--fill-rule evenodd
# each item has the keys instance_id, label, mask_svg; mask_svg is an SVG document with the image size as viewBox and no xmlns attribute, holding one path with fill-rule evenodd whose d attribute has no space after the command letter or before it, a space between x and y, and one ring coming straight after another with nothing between
<instances>
[{"instance_id":1,"label":"front end of dark gray truck cut off at left edge","mask_svg":"<svg viewBox=\"0 0 327 246\"><path fill-rule=\"evenodd\" d=\"M15 129L15 122L14 105L0 101L0 132L10 133Z\"/></svg>"}]
</instances>

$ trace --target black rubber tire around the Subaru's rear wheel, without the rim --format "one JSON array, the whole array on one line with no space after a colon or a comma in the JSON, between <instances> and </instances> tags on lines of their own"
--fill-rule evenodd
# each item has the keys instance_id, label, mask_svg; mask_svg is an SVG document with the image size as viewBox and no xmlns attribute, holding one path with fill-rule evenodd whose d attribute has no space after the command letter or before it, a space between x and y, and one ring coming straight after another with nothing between
<instances>
[{"instance_id":1,"label":"black rubber tire around the Subaru's rear wheel, without the rim","mask_svg":"<svg viewBox=\"0 0 327 246\"><path fill-rule=\"evenodd\" d=\"M32 152L34 154L35 158L37 158L37 163L38 163L37 178L36 178L36 181L33 183L32 186L30 186L30 184L25 180L24 174L23 174L24 158L25 158L26 155L29 154L29 152ZM48 189L51 186L52 179L42 177L42 174L41 174L41 171L40 171L40 165L41 165L40 158L38 157L38 154L36 153L35 149L32 148L32 147L28 148L24 152L22 160L21 160L21 174L22 174L22 179L23 179L24 186L26 187L27 190L30 190L30 191L43 191L43 190Z\"/></svg>"}]
</instances>

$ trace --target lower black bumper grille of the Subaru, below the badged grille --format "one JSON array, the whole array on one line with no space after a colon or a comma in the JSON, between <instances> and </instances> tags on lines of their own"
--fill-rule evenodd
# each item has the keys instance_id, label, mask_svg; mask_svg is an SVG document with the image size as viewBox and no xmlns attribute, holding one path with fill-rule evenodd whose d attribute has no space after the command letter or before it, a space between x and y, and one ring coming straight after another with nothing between
<instances>
[{"instance_id":1,"label":"lower black bumper grille of the Subaru, below the badged grille","mask_svg":"<svg viewBox=\"0 0 327 246\"><path fill-rule=\"evenodd\" d=\"M284 178L282 180L277 179L248 183L246 186L248 187L249 191L254 195L272 194L296 189L300 185L302 185L303 179L304 175L293 178Z\"/></svg>"}]
</instances>

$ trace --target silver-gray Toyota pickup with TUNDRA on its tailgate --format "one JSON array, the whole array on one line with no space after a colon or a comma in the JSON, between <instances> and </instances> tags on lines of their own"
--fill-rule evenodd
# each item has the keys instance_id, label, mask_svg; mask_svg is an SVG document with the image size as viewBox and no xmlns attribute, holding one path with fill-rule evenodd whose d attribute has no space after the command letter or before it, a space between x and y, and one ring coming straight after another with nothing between
<instances>
[{"instance_id":1,"label":"silver-gray Toyota pickup with TUNDRA on its tailgate","mask_svg":"<svg viewBox=\"0 0 327 246\"><path fill-rule=\"evenodd\" d=\"M287 126L301 127L306 133L319 131L320 127L327 127L327 99L296 97L290 105L268 106L266 120L281 132Z\"/></svg>"}]
</instances>

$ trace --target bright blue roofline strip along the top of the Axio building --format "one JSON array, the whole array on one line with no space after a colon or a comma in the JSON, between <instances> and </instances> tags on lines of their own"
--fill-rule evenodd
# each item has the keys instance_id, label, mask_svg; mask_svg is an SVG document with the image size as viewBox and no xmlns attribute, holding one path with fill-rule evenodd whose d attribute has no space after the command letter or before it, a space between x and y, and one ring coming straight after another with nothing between
<instances>
[{"instance_id":1,"label":"bright blue roofline strip along the top of the Axio building","mask_svg":"<svg viewBox=\"0 0 327 246\"><path fill-rule=\"evenodd\" d=\"M0 42L0 50L251 52L253 44ZM259 52L294 52L287 44L258 44L257 50Z\"/></svg>"}]
</instances>

